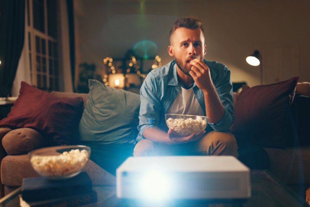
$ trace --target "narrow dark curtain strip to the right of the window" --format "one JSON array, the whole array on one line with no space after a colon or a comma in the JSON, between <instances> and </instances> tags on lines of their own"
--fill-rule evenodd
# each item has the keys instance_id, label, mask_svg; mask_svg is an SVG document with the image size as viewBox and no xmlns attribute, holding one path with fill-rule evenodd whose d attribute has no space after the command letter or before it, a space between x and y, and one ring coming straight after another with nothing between
<instances>
[{"instance_id":1,"label":"narrow dark curtain strip to the right of the window","mask_svg":"<svg viewBox=\"0 0 310 207\"><path fill-rule=\"evenodd\" d=\"M71 76L72 76L72 87L74 87L75 77L75 42L74 42L74 13L73 13L73 0L67 0L67 12L68 12L68 25L69 25L69 47L70 47L70 64L71 64Z\"/></svg>"}]
</instances>

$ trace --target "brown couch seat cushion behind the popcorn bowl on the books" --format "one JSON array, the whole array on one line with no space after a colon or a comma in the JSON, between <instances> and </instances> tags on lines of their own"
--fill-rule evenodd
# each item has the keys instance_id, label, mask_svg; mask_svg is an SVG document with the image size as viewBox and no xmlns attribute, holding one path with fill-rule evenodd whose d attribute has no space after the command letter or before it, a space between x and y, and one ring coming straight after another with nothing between
<instances>
[{"instance_id":1,"label":"brown couch seat cushion behind the popcorn bowl on the books","mask_svg":"<svg viewBox=\"0 0 310 207\"><path fill-rule=\"evenodd\" d=\"M83 171L91 177L94 186L115 185L115 177L89 160ZM14 173L12 173L14 172ZM8 186L21 186L23 178L38 177L28 155L7 155L1 162L1 182Z\"/></svg>"}]
</instances>

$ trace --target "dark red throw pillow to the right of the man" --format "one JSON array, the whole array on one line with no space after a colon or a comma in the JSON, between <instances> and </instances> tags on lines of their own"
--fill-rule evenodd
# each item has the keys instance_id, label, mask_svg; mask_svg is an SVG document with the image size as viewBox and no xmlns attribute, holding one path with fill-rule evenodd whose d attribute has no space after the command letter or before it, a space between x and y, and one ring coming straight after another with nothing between
<instances>
[{"instance_id":1,"label":"dark red throw pillow to the right of the man","mask_svg":"<svg viewBox=\"0 0 310 207\"><path fill-rule=\"evenodd\" d=\"M243 86L234 107L232 133L241 141L284 148L292 137L293 103L299 76L270 85Z\"/></svg>"}]
</instances>

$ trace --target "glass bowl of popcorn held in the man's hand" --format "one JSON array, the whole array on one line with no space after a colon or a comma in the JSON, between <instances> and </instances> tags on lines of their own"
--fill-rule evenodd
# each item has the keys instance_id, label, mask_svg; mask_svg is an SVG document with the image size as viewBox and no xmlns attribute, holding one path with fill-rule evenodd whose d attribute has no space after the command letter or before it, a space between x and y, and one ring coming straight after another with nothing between
<instances>
[{"instance_id":1,"label":"glass bowl of popcorn held in the man's hand","mask_svg":"<svg viewBox=\"0 0 310 207\"><path fill-rule=\"evenodd\" d=\"M206 116L182 115L182 114L165 114L166 124L169 129L181 137L186 137L196 132L202 132L209 121Z\"/></svg>"}]
</instances>

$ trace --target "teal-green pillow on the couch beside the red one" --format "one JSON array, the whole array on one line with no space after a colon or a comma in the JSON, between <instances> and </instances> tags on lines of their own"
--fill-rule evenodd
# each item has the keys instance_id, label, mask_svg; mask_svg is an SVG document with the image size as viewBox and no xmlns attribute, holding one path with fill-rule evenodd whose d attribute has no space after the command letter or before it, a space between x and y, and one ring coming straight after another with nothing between
<instances>
[{"instance_id":1,"label":"teal-green pillow on the couch beside the red one","mask_svg":"<svg viewBox=\"0 0 310 207\"><path fill-rule=\"evenodd\" d=\"M88 80L88 100L79 124L82 141L135 143L140 96Z\"/></svg>"}]
</instances>

